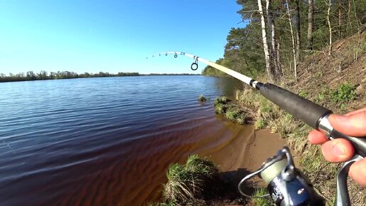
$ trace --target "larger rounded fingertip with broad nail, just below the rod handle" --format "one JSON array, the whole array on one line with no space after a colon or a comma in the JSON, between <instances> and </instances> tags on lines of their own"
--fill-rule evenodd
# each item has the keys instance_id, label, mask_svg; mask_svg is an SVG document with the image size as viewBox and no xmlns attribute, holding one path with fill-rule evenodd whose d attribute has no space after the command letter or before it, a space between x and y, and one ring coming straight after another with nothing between
<instances>
[{"instance_id":1,"label":"larger rounded fingertip with broad nail, just below the rod handle","mask_svg":"<svg viewBox=\"0 0 366 206\"><path fill-rule=\"evenodd\" d=\"M355 153L352 144L345 139L327 141L321 146L321 151L323 152L324 158L332 163L348 161L348 159L353 157L353 153Z\"/></svg>"}]
</instances>

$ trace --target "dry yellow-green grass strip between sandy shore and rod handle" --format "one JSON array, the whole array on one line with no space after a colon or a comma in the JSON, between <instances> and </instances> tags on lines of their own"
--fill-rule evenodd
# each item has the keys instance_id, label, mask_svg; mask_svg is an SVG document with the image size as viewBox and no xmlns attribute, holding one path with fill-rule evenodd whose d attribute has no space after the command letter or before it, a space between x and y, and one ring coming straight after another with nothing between
<instances>
[{"instance_id":1,"label":"dry yellow-green grass strip between sandy shore and rod handle","mask_svg":"<svg viewBox=\"0 0 366 206\"><path fill-rule=\"evenodd\" d=\"M327 92L325 101L329 101L329 92L324 90L324 94ZM337 170L337 165L329 165L326 168L324 166L326 161L321 156L321 149L318 146L311 145L306 136L311 131L311 127L304 124L299 119L296 119L291 114L284 112L279 109L277 105L262 97L259 92L253 90L243 90L236 92L235 95L238 102L243 103L246 107L253 108L257 111L255 129L267 128L270 131L280 134L287 140L288 145L295 151L295 153L301 154L301 166L303 167L304 173L309 177L311 181L316 180L316 185L322 190L332 191L335 187L334 171ZM301 96L306 97L307 92L299 92ZM328 179L331 178L331 179ZM325 183L321 180L328 180ZM325 187L325 188L323 188ZM334 193L328 193L325 195L327 200L331 202ZM270 204L268 202L262 202L264 200L255 199L256 205Z\"/></svg>"}]
</instances>

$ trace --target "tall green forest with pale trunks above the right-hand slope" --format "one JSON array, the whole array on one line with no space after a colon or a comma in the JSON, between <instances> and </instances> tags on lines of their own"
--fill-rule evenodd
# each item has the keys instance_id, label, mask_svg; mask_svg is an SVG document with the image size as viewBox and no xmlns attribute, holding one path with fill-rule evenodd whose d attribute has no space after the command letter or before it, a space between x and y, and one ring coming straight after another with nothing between
<instances>
[{"instance_id":1,"label":"tall green forest with pale trunks above the right-hand slope","mask_svg":"<svg viewBox=\"0 0 366 206\"><path fill-rule=\"evenodd\" d=\"M245 25L231 28L223 58L216 63L243 75L265 75L268 82L296 81L299 64L309 55L332 56L336 40L358 35L357 60L365 29L366 0L237 0ZM202 75L225 76L207 66Z\"/></svg>"}]
</instances>

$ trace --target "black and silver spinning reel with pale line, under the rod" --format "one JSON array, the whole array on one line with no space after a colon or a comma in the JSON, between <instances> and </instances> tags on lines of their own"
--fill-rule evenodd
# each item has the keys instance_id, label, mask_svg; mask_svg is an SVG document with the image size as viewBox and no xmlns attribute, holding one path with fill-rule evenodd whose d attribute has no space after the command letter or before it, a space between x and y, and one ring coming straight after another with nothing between
<instances>
[{"instance_id":1,"label":"black and silver spinning reel with pale line, under the rod","mask_svg":"<svg viewBox=\"0 0 366 206\"><path fill-rule=\"evenodd\" d=\"M350 165L359 157L346 162L337 175L336 205L350 205L347 189L347 176ZM267 185L269 194L252 197L243 193L242 185L245 180L260 177ZM272 197L277 206L325 205L325 200L319 196L309 180L294 166L289 148L284 147L277 151L275 156L268 158L258 170L245 176L238 185L241 195L250 198Z\"/></svg>"}]
</instances>

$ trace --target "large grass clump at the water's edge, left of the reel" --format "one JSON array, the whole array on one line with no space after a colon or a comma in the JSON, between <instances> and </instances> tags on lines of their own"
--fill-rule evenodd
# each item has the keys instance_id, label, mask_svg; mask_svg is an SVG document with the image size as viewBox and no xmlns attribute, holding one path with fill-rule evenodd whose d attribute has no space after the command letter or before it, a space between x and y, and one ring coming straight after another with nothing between
<instances>
[{"instance_id":1,"label":"large grass clump at the water's edge, left of the reel","mask_svg":"<svg viewBox=\"0 0 366 206\"><path fill-rule=\"evenodd\" d=\"M218 168L213 162L189 156L184 166L174 163L168 168L164 202L201 205L207 196L217 193L218 183Z\"/></svg>"}]
</instances>

